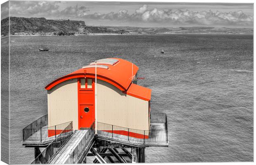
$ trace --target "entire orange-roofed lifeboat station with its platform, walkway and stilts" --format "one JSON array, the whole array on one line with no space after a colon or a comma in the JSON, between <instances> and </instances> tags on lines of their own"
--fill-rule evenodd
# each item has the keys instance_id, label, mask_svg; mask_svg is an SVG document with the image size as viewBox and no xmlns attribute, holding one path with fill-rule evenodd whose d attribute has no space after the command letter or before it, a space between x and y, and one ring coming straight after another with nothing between
<instances>
[{"instance_id":1,"label":"entire orange-roofed lifeboat station with its platform, walkway and stilts","mask_svg":"<svg viewBox=\"0 0 256 165\"><path fill-rule=\"evenodd\" d=\"M167 117L152 113L152 90L124 59L92 61L45 87L48 114L23 129L31 164L145 163L145 148L168 146Z\"/></svg>"}]
</instances>

